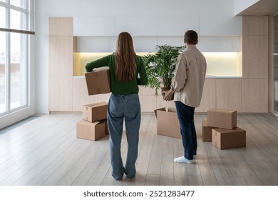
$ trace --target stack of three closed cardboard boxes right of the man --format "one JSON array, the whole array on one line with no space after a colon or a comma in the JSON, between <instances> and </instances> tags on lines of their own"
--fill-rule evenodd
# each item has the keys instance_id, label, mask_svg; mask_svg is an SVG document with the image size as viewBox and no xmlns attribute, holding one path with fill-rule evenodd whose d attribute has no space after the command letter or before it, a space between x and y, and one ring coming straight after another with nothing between
<instances>
[{"instance_id":1,"label":"stack of three closed cardboard boxes right of the man","mask_svg":"<svg viewBox=\"0 0 278 200\"><path fill-rule=\"evenodd\" d=\"M202 141L211 141L218 149L246 146L246 131L237 127L237 111L210 109L202 121Z\"/></svg>"}]
</instances>

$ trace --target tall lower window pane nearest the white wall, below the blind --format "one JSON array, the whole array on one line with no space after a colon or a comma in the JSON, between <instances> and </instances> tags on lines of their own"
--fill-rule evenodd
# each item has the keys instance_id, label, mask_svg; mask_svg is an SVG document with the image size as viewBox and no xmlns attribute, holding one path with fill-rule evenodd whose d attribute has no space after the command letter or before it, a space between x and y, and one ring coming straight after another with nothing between
<instances>
[{"instance_id":1,"label":"tall lower window pane nearest the white wall, below the blind","mask_svg":"<svg viewBox=\"0 0 278 200\"><path fill-rule=\"evenodd\" d=\"M26 105L26 37L11 33L11 109Z\"/></svg>"}]
</instances>

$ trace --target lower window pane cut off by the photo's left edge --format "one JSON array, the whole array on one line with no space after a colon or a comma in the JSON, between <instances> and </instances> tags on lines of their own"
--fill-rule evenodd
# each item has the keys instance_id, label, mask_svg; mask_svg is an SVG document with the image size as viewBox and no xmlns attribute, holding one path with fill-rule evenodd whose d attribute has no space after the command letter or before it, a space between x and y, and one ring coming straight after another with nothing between
<instances>
[{"instance_id":1,"label":"lower window pane cut off by the photo's left edge","mask_svg":"<svg viewBox=\"0 0 278 200\"><path fill-rule=\"evenodd\" d=\"M6 33L0 32L0 114L6 111Z\"/></svg>"}]
</instances>

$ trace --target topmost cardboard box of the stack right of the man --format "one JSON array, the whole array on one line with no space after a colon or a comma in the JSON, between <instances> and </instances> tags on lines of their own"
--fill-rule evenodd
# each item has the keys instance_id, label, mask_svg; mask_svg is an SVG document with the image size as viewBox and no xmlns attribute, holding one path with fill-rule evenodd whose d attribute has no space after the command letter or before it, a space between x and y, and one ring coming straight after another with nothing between
<instances>
[{"instance_id":1,"label":"topmost cardboard box of the stack right of the man","mask_svg":"<svg viewBox=\"0 0 278 200\"><path fill-rule=\"evenodd\" d=\"M207 111L207 126L234 129L237 127L237 111L210 109Z\"/></svg>"}]
</instances>

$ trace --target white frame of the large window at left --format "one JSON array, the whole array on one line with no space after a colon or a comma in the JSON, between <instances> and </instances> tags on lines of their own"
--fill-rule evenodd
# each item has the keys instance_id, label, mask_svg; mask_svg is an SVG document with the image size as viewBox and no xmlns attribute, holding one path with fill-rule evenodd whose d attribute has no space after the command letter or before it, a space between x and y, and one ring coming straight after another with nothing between
<instances>
[{"instance_id":1,"label":"white frame of the large window at left","mask_svg":"<svg viewBox=\"0 0 278 200\"><path fill-rule=\"evenodd\" d=\"M10 0L6 0L6 2L0 1L0 6L4 7L6 9L6 27L2 28L0 27L0 31L6 32L6 61L5 61L5 102L6 105L5 111L0 113L0 117L6 116L8 114L14 113L16 111L20 111L22 109L26 109L30 107L30 48L31 48L31 35L34 35L34 31L29 31L30 29L33 29L31 27L32 21L31 21L31 6L30 4L34 4L34 1L32 0L26 0L24 1L26 9L21 8L19 6L14 6L10 4ZM11 27L11 10L19 11L21 14L24 14L26 20L23 22L24 24L21 24L21 27L23 29L9 29ZM33 22L34 23L34 22ZM23 45L23 50L21 50L21 56L24 57L23 62L23 71L21 71L22 76L24 76L24 82L20 84L24 84L24 96L23 97L23 104L20 106L16 106L15 108L11 108L11 34L16 33L20 34L20 41ZM26 36L22 36L22 34L26 34Z\"/></svg>"}]
</instances>

